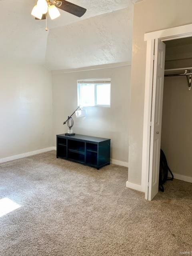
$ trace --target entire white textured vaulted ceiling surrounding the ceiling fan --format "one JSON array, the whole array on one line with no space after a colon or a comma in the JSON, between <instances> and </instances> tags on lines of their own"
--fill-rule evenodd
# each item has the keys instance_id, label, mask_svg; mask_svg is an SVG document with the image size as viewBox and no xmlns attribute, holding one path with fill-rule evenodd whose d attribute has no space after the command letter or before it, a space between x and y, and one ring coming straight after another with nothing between
<instances>
[{"instance_id":1,"label":"entire white textured vaulted ceiling surrounding the ceiling fan","mask_svg":"<svg viewBox=\"0 0 192 256\"><path fill-rule=\"evenodd\" d=\"M137 0L70 0L87 8L81 18L61 11L34 20L35 0L0 0L0 60L46 64L52 70L129 61ZM121 10L122 9L122 10Z\"/></svg>"}]
</instances>

